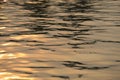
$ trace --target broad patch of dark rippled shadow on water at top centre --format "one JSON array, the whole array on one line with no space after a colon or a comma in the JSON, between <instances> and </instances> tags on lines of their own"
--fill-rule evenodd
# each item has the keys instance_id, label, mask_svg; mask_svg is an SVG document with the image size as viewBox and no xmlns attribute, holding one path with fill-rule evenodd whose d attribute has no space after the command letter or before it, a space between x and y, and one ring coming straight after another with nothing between
<instances>
[{"instance_id":1,"label":"broad patch of dark rippled shadow on water at top centre","mask_svg":"<svg viewBox=\"0 0 120 80\"><path fill-rule=\"evenodd\" d=\"M86 42L85 37L79 35L91 35L92 25L83 25L83 22L93 21L93 16L89 14L93 9L91 0L76 0L76 1L54 1L43 0L38 3L26 3L24 8L31 10L34 13L31 17L37 17L38 21L30 24L28 28L35 33L47 34L53 38L68 38L77 43L67 43L72 48L77 47L80 41L82 43L93 43L94 41ZM58 27L59 26L59 27Z\"/></svg>"}]
</instances>

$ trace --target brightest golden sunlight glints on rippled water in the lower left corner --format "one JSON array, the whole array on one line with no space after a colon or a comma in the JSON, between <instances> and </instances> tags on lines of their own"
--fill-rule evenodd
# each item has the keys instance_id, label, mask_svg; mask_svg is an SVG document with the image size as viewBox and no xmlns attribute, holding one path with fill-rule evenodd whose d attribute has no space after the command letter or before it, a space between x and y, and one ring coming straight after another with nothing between
<instances>
[{"instance_id":1,"label":"brightest golden sunlight glints on rippled water in the lower left corner","mask_svg":"<svg viewBox=\"0 0 120 80\"><path fill-rule=\"evenodd\" d=\"M0 53L5 53L5 50L0 50ZM5 60L5 59L17 59L17 58L25 58L26 55L24 53L7 53L7 54L0 54L0 60ZM27 61L21 61L21 63L28 63ZM10 65L8 65L10 66ZM19 66L19 65L17 65ZM3 66L5 67L5 66ZM13 68L14 69L14 68ZM22 68L22 70L24 70ZM27 69L25 69L27 70ZM23 77L26 75L22 75L19 76L16 73L10 73L10 72L5 72L6 70L2 70L2 72L0 72L0 80L36 80L34 78L30 78L30 77ZM30 71L30 70L29 70Z\"/></svg>"}]
</instances>

